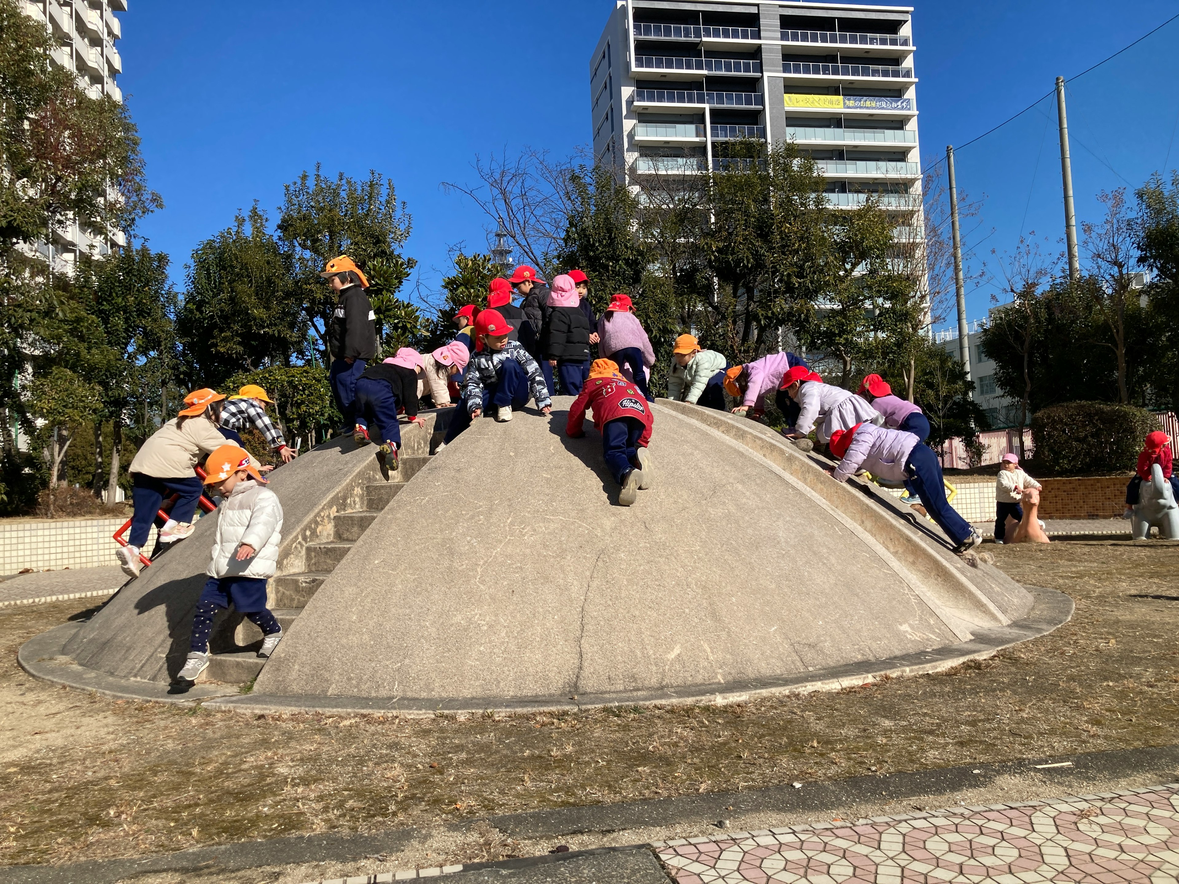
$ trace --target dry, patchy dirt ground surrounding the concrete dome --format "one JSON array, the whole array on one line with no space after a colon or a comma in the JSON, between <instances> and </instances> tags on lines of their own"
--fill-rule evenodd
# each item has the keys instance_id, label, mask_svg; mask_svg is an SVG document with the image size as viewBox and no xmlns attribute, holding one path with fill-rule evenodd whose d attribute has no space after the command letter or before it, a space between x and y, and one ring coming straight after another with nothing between
<instances>
[{"instance_id":1,"label":"dry, patchy dirt ground surrounding the concrete dome","mask_svg":"<svg viewBox=\"0 0 1179 884\"><path fill-rule=\"evenodd\" d=\"M84 606L0 609L0 865L1174 743L1179 545L987 549L1068 593L1074 619L946 673L724 707L400 720L114 701L15 662ZM514 849L489 831L448 862Z\"/></svg>"}]
</instances>

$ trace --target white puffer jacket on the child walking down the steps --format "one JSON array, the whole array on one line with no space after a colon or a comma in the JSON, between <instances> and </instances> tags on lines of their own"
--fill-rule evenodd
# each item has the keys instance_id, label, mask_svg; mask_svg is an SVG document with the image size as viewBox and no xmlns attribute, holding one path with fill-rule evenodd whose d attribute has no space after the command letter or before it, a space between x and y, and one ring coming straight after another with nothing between
<instances>
[{"instance_id":1,"label":"white puffer jacket on the child walking down the steps","mask_svg":"<svg viewBox=\"0 0 1179 884\"><path fill-rule=\"evenodd\" d=\"M278 543L283 539L283 506L278 495L252 479L238 482L217 513L213 558L205 572L211 578L272 578L278 566ZM237 560L243 543L257 553Z\"/></svg>"}]
</instances>

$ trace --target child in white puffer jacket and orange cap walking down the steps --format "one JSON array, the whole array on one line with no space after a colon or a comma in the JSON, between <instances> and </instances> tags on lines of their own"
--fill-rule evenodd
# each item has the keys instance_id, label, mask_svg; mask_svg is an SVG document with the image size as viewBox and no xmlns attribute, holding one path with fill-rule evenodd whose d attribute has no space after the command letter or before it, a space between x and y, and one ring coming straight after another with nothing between
<instances>
[{"instance_id":1,"label":"child in white puffer jacket and orange cap walking down the steps","mask_svg":"<svg viewBox=\"0 0 1179 884\"><path fill-rule=\"evenodd\" d=\"M222 446L205 461L205 484L224 497L218 508L217 535L209 580L192 618L189 658L173 684L192 687L209 667L209 633L218 608L233 608L262 629L258 657L270 657L283 636L266 608L266 580L275 575L283 539L283 507L265 487L250 455L237 446Z\"/></svg>"}]
</instances>

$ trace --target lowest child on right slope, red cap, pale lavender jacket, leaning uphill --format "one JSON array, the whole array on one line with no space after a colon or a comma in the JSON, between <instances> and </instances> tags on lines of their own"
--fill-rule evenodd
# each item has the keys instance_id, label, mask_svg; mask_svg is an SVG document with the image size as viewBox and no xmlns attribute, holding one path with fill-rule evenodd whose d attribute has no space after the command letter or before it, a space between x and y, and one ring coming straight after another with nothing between
<instances>
[{"instance_id":1,"label":"lowest child on right slope, red cap, pale lavender jacket, leaning uphill","mask_svg":"<svg viewBox=\"0 0 1179 884\"><path fill-rule=\"evenodd\" d=\"M946 482L937 455L911 433L857 423L831 434L831 454L839 459L832 473L836 481L847 482L861 469L891 482L911 481L926 512L954 541L955 553L974 549L982 542L982 535L946 500Z\"/></svg>"}]
</instances>

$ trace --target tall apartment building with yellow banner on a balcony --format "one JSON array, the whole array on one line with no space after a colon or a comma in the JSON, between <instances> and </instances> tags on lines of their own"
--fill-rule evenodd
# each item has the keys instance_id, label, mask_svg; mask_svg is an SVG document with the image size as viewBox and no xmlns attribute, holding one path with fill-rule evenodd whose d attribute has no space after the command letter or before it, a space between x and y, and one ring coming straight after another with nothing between
<instances>
[{"instance_id":1,"label":"tall apartment building with yellow banner on a balcony","mask_svg":"<svg viewBox=\"0 0 1179 884\"><path fill-rule=\"evenodd\" d=\"M832 205L920 204L911 8L618 0L590 62L594 157L627 180L792 140Z\"/></svg>"}]
</instances>

